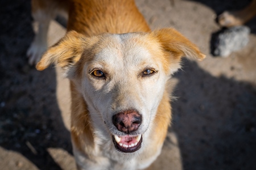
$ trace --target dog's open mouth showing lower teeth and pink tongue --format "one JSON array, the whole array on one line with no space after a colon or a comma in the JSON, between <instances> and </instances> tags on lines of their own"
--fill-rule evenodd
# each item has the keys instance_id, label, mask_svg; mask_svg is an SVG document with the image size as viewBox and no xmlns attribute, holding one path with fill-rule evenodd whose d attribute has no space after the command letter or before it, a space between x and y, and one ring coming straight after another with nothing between
<instances>
[{"instance_id":1,"label":"dog's open mouth showing lower teeth and pink tongue","mask_svg":"<svg viewBox=\"0 0 256 170\"><path fill-rule=\"evenodd\" d=\"M115 148L120 152L135 152L141 148L142 135L138 135L137 137L130 135L118 137L117 135L113 135L113 143Z\"/></svg>"}]
</instances>

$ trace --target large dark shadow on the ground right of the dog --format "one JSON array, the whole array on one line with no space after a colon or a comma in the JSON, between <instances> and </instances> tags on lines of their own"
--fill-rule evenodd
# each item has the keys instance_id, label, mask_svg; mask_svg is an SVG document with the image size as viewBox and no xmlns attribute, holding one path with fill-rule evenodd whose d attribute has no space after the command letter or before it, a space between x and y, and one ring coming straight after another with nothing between
<instances>
[{"instance_id":1,"label":"large dark shadow on the ground right of the dog","mask_svg":"<svg viewBox=\"0 0 256 170\"><path fill-rule=\"evenodd\" d=\"M256 89L216 78L195 62L184 62L172 102L172 129L184 170L256 169Z\"/></svg>"}]
</instances>

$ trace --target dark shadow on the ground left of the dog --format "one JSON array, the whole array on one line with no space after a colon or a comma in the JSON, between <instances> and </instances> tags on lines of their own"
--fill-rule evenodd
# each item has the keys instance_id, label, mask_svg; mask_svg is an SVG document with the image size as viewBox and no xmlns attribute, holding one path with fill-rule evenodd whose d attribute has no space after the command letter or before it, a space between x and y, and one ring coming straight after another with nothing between
<instances>
[{"instance_id":1,"label":"dark shadow on the ground left of the dog","mask_svg":"<svg viewBox=\"0 0 256 170\"><path fill-rule=\"evenodd\" d=\"M27 64L34 37L30 2L1 1L0 6L0 146L39 169L60 169L47 148L72 154L72 146L56 101L55 69L39 72Z\"/></svg>"}]
</instances>

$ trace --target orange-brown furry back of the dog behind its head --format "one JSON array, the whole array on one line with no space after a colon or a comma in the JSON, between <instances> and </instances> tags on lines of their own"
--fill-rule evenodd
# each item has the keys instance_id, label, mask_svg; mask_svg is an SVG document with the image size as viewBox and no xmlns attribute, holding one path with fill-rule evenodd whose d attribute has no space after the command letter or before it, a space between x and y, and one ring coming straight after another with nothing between
<instances>
[{"instance_id":1,"label":"orange-brown furry back of the dog behind its head","mask_svg":"<svg viewBox=\"0 0 256 170\"><path fill-rule=\"evenodd\" d=\"M148 32L146 21L133 0L73 1L67 29L86 36L100 33ZM96 15L100 14L100 15ZM90 23L90 24L88 24Z\"/></svg>"}]
</instances>

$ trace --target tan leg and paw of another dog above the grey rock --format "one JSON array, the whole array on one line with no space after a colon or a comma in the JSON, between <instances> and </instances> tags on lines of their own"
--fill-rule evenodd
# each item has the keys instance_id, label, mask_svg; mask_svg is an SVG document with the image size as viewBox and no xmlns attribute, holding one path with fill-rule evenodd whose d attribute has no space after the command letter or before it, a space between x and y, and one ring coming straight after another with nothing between
<instances>
[{"instance_id":1,"label":"tan leg and paw of another dog above the grey rock","mask_svg":"<svg viewBox=\"0 0 256 170\"><path fill-rule=\"evenodd\" d=\"M252 0L250 5L238 11L225 11L218 16L218 23L222 27L233 27L243 25L256 15L256 0Z\"/></svg>"}]
</instances>

